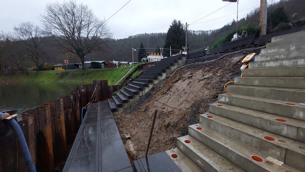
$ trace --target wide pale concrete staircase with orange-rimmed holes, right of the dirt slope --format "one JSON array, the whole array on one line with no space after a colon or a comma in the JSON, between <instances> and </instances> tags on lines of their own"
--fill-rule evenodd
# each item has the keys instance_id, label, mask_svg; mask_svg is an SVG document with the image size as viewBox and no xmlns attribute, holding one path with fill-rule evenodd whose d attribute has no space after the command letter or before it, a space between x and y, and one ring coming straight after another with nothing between
<instances>
[{"instance_id":1,"label":"wide pale concrete staircase with orange-rimmed holes, right of the dirt slope","mask_svg":"<svg viewBox=\"0 0 305 172\"><path fill-rule=\"evenodd\" d=\"M182 171L305 171L304 77L305 31L272 38L167 154Z\"/></svg>"}]
</instances>

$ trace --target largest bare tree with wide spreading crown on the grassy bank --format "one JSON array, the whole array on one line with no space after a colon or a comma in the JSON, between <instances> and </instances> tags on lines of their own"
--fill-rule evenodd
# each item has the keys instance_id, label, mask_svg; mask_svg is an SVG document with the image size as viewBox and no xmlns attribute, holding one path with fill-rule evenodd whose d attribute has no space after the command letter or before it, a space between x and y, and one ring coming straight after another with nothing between
<instances>
[{"instance_id":1,"label":"largest bare tree with wide spreading crown on the grassy bank","mask_svg":"<svg viewBox=\"0 0 305 172\"><path fill-rule=\"evenodd\" d=\"M112 36L105 20L99 20L88 5L72 0L47 4L39 19L47 35L81 59L83 70L84 56L96 50L105 51L106 40Z\"/></svg>"}]
</instances>

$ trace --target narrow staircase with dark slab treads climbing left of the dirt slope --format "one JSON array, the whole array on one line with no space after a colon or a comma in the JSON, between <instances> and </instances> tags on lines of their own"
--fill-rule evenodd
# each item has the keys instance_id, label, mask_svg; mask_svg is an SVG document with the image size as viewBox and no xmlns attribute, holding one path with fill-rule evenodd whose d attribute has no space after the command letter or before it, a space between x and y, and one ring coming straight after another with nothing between
<instances>
[{"instance_id":1,"label":"narrow staircase with dark slab treads climbing left of the dirt slope","mask_svg":"<svg viewBox=\"0 0 305 172\"><path fill-rule=\"evenodd\" d=\"M124 90L120 90L117 95L108 99L113 115L120 114L124 108L135 104L139 100L139 96L144 96L153 84L158 84L160 80L165 79L167 74L183 65L185 61L185 54L179 54L155 62L154 66L144 71L135 81L124 87Z\"/></svg>"}]
</instances>

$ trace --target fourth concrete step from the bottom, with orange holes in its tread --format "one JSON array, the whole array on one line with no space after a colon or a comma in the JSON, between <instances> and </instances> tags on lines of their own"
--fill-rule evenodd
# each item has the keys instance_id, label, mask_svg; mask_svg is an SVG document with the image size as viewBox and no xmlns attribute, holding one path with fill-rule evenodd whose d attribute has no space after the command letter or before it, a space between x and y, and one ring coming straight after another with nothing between
<instances>
[{"instance_id":1,"label":"fourth concrete step from the bottom, with orange holes in its tread","mask_svg":"<svg viewBox=\"0 0 305 172\"><path fill-rule=\"evenodd\" d=\"M246 145L247 148L255 148L260 152L264 152L265 155L271 156L299 170L305 169L305 163L301 163L305 159L304 143L293 141L286 137L278 136L212 113L201 114L199 121L206 129L234 139L239 144ZM192 136L190 132L189 134ZM300 159L296 159L296 157Z\"/></svg>"}]
</instances>

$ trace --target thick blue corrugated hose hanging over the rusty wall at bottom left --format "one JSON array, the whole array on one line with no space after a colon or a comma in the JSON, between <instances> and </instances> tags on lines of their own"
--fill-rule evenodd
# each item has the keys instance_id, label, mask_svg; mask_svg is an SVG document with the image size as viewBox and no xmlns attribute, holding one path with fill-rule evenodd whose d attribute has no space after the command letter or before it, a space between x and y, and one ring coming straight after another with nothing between
<instances>
[{"instance_id":1,"label":"thick blue corrugated hose hanging over the rusty wall at bottom left","mask_svg":"<svg viewBox=\"0 0 305 172\"><path fill-rule=\"evenodd\" d=\"M0 117L4 115L4 113L0 112ZM27 168L30 172L36 172L32 157L30 155L29 148L27 147L27 141L25 140L25 137L23 135L23 132L14 119L9 120L9 125L12 127L13 131L15 132L15 135L17 137L18 147L21 149L21 153L23 155L23 158L25 160L25 163L27 164Z\"/></svg>"}]
</instances>

